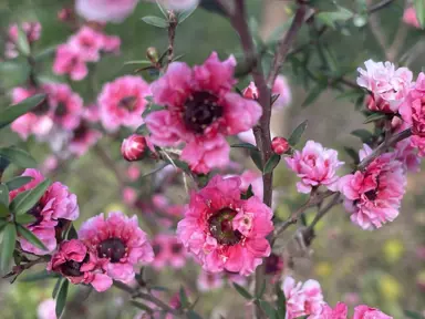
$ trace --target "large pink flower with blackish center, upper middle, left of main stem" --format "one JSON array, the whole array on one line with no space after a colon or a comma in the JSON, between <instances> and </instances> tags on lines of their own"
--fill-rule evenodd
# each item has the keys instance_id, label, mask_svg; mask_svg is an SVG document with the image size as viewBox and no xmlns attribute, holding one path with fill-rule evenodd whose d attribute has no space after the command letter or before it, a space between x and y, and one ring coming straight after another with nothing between
<instances>
[{"instance_id":1,"label":"large pink flower with blackish center, upper middle, left of main stem","mask_svg":"<svg viewBox=\"0 0 425 319\"><path fill-rule=\"evenodd\" d=\"M256 101L232 92L235 66L234 56L221 62L214 52L194 69L174 62L152 83L155 103L167 107L146 117L152 142L158 146L186 143L182 158L196 173L226 166L230 147L225 136L248 131L261 116Z\"/></svg>"}]
</instances>

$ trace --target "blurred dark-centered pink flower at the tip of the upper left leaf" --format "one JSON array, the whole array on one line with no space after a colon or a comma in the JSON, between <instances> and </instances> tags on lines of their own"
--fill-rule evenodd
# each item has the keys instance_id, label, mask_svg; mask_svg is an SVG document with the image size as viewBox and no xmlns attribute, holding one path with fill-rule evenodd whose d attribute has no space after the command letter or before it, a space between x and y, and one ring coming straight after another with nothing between
<instances>
[{"instance_id":1,"label":"blurred dark-centered pink flower at the tip of the upper left leaf","mask_svg":"<svg viewBox=\"0 0 425 319\"><path fill-rule=\"evenodd\" d=\"M83 113L83 99L66 84L46 84L44 90L53 122L64 130L76 128Z\"/></svg>"}]
</instances>

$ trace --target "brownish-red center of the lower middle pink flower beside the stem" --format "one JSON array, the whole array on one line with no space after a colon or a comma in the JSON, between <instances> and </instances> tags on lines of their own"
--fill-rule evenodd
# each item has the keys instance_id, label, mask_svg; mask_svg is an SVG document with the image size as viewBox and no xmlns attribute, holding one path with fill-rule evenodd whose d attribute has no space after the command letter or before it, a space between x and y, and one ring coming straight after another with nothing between
<instances>
[{"instance_id":1,"label":"brownish-red center of the lower middle pink flower beside the stem","mask_svg":"<svg viewBox=\"0 0 425 319\"><path fill-rule=\"evenodd\" d=\"M231 208L222 208L208 219L209 233L220 245L236 245L242 238L239 230L234 230L232 223L238 212Z\"/></svg>"}]
</instances>

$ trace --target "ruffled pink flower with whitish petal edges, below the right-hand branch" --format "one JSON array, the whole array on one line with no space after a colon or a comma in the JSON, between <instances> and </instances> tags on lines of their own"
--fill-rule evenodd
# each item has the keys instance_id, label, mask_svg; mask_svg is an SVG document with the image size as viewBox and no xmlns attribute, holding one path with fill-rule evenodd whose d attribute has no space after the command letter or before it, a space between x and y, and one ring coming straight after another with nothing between
<instances>
[{"instance_id":1,"label":"ruffled pink flower with whitish petal edges, below the right-hand branch","mask_svg":"<svg viewBox=\"0 0 425 319\"><path fill-rule=\"evenodd\" d=\"M364 145L362 161L372 150ZM363 229L380 228L398 216L405 192L406 176L403 163L395 154L386 153L375 158L364 172L340 178L339 188L345 196L344 206L351 220Z\"/></svg>"}]
</instances>

